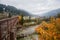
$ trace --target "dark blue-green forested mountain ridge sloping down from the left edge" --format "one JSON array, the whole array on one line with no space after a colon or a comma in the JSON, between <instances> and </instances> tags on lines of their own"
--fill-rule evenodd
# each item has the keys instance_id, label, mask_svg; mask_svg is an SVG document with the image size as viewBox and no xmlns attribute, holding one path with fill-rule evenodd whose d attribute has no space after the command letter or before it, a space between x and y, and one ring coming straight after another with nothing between
<instances>
[{"instance_id":1,"label":"dark blue-green forested mountain ridge sloping down from the left edge","mask_svg":"<svg viewBox=\"0 0 60 40\"><path fill-rule=\"evenodd\" d=\"M24 10L17 9L13 6L6 6L3 4L0 4L0 13L3 13L3 11L11 13L11 15L24 15L24 16L30 16L30 14Z\"/></svg>"}]
</instances>

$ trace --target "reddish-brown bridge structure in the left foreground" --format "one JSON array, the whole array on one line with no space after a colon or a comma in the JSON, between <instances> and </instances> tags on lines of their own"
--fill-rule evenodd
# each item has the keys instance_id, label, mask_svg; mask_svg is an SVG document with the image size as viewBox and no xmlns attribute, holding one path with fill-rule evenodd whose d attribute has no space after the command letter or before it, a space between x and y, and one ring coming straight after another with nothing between
<instances>
[{"instance_id":1,"label":"reddish-brown bridge structure in the left foreground","mask_svg":"<svg viewBox=\"0 0 60 40\"><path fill-rule=\"evenodd\" d=\"M0 20L0 40L16 40L18 16Z\"/></svg>"}]
</instances>

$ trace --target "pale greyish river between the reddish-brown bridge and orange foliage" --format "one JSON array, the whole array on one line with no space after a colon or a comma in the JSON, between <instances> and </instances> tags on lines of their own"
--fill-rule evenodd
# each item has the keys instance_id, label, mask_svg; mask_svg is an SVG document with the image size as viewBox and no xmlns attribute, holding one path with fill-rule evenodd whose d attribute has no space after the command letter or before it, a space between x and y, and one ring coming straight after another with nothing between
<instances>
[{"instance_id":1,"label":"pale greyish river between the reddish-brown bridge and orange foliage","mask_svg":"<svg viewBox=\"0 0 60 40\"><path fill-rule=\"evenodd\" d=\"M38 25L30 26L22 31L18 31L18 35L27 35L26 37L20 38L19 40L38 40L38 34L35 33L36 27L38 27Z\"/></svg>"}]
</instances>

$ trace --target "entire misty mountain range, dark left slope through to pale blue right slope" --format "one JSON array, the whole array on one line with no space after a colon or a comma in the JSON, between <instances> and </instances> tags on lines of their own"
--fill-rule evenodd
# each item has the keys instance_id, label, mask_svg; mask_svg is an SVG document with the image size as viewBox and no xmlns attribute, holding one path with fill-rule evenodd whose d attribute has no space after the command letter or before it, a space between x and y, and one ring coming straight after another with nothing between
<instances>
[{"instance_id":1,"label":"entire misty mountain range, dark left slope through to pale blue right slope","mask_svg":"<svg viewBox=\"0 0 60 40\"><path fill-rule=\"evenodd\" d=\"M32 15L29 12L25 11L25 10L21 10L21 9L17 9L13 6L6 6L3 4L0 4L0 13L3 12L3 8L5 8L5 12L9 12L12 15L24 15L24 16L46 16L46 17L50 17L50 16L56 16L58 13L60 13L60 8L56 9L56 10L51 10L47 13L44 13L42 15Z\"/></svg>"}]
</instances>

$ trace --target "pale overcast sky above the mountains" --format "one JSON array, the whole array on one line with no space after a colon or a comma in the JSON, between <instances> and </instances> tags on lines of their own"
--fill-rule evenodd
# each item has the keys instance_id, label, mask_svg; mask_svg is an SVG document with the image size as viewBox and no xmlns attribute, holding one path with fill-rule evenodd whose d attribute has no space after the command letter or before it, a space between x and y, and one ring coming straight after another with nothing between
<instances>
[{"instance_id":1,"label":"pale overcast sky above the mountains","mask_svg":"<svg viewBox=\"0 0 60 40\"><path fill-rule=\"evenodd\" d=\"M0 0L0 3L15 6L32 14L43 14L60 8L60 0Z\"/></svg>"}]
</instances>

